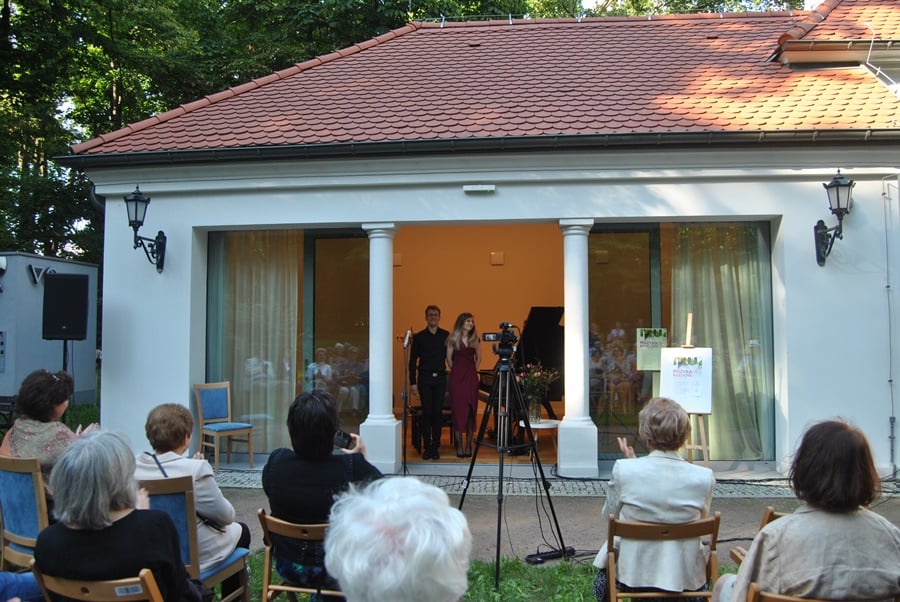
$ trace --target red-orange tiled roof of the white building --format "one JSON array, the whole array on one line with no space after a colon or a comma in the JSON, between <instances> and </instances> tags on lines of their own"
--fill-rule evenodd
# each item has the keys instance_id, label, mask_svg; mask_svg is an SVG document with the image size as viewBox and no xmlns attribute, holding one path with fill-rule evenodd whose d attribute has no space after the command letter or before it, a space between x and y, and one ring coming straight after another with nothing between
<instances>
[{"instance_id":1,"label":"red-orange tiled roof of the white building","mask_svg":"<svg viewBox=\"0 0 900 602\"><path fill-rule=\"evenodd\" d=\"M73 151L893 128L900 101L864 69L768 60L779 40L865 38L867 21L900 38L900 0L826 0L811 13L414 23Z\"/></svg>"}]
</instances>

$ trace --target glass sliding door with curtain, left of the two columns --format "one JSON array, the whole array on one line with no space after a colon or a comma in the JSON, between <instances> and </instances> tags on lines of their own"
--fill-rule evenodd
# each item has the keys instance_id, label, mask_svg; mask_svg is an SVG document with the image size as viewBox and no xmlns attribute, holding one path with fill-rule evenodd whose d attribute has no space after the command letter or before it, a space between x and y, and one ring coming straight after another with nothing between
<instances>
[{"instance_id":1,"label":"glass sliding door with curtain, left of the two columns","mask_svg":"<svg viewBox=\"0 0 900 602\"><path fill-rule=\"evenodd\" d=\"M315 386L346 400L358 423L367 348L368 245L357 231L210 233L207 381L231 381L233 414L256 427L255 451L290 447L287 409Z\"/></svg>"}]
</instances>

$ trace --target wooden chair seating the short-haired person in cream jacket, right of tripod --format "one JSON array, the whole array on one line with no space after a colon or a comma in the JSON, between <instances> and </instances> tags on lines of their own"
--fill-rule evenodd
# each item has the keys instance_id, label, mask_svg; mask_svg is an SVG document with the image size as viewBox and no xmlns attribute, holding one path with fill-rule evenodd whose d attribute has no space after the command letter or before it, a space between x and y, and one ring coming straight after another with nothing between
<instances>
[{"instance_id":1,"label":"wooden chair seating the short-haired person in cream jacket, right of tripod","mask_svg":"<svg viewBox=\"0 0 900 602\"><path fill-rule=\"evenodd\" d=\"M618 520L609 517L609 534L607 536L608 556L607 575L609 576L609 599L612 602L624 598L710 598L716 579L719 577L719 558L716 555L716 541L719 538L719 521L721 515L716 512L707 518L690 523L675 525L660 523L644 523L639 521ZM709 561L706 563L706 581L708 591L686 592L620 592L616 587L617 566L614 538L639 539L642 541L675 541L679 539L709 538Z\"/></svg>"}]
</instances>

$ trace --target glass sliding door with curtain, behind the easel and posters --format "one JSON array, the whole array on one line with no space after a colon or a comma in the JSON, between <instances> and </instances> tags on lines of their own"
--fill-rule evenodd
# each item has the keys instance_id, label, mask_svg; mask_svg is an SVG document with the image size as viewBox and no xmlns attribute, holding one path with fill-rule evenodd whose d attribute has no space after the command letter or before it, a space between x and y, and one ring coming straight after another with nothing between
<instances>
[{"instance_id":1,"label":"glass sliding door with curtain, behind the easel and posters","mask_svg":"<svg viewBox=\"0 0 900 602\"><path fill-rule=\"evenodd\" d=\"M596 227L589 243L590 411L601 459L635 436L658 373L637 370L637 328L668 329L669 345L713 350L709 445L714 460L774 455L772 290L767 223ZM677 400L676 400L677 401Z\"/></svg>"}]
</instances>

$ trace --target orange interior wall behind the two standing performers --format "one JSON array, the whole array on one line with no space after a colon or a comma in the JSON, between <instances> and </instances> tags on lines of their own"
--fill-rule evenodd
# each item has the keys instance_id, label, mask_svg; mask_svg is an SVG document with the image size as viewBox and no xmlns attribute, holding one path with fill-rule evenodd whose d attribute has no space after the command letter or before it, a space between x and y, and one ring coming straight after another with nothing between
<instances>
[{"instance_id":1,"label":"orange interior wall behind the two standing performers","mask_svg":"<svg viewBox=\"0 0 900 602\"><path fill-rule=\"evenodd\" d=\"M441 308L440 325L447 330L453 329L457 315L471 312L479 335L497 332L500 322L521 329L532 306L561 306L563 240L559 226L420 226L397 232L395 405L401 404L405 385L403 336L409 327L413 332L425 327L425 306L430 304ZM484 343L480 367L491 368L495 361L490 344Z\"/></svg>"}]
</instances>

